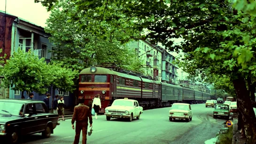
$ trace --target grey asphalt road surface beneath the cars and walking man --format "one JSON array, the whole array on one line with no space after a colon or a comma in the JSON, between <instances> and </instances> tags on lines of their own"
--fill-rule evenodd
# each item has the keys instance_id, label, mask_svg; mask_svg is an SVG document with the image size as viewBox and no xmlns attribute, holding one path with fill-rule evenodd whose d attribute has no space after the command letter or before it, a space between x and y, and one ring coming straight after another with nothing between
<instances>
[{"instance_id":1,"label":"grey asphalt road surface beneath the cars and walking man","mask_svg":"<svg viewBox=\"0 0 256 144\"><path fill-rule=\"evenodd\" d=\"M105 115L93 119L93 134L87 135L87 144L204 144L216 136L225 120L213 119L214 108L205 104L191 105L192 121L169 121L170 107L146 110L140 120L106 120ZM75 130L71 120L60 121L50 138L40 134L23 137L23 144L72 144ZM80 137L80 143L82 136Z\"/></svg>"}]
</instances>

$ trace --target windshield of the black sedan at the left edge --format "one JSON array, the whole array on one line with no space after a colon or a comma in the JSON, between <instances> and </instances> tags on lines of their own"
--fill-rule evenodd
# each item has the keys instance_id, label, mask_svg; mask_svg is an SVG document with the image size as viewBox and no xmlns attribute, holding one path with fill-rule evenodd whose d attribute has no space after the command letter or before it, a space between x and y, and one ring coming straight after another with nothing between
<instances>
[{"instance_id":1,"label":"windshield of the black sedan at the left edge","mask_svg":"<svg viewBox=\"0 0 256 144\"><path fill-rule=\"evenodd\" d=\"M22 115L24 105L0 101L0 114Z\"/></svg>"}]
</instances>

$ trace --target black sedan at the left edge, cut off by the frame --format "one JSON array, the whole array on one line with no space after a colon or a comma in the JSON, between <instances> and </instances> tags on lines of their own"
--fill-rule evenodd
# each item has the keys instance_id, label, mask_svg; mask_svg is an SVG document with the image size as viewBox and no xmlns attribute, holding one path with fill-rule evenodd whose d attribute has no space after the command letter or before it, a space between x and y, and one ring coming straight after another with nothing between
<instances>
[{"instance_id":1,"label":"black sedan at the left edge, cut off by the frame","mask_svg":"<svg viewBox=\"0 0 256 144\"><path fill-rule=\"evenodd\" d=\"M50 137L58 117L48 113L43 101L0 99L0 137L5 137L8 144L18 143L23 135L42 133L43 137Z\"/></svg>"}]
</instances>

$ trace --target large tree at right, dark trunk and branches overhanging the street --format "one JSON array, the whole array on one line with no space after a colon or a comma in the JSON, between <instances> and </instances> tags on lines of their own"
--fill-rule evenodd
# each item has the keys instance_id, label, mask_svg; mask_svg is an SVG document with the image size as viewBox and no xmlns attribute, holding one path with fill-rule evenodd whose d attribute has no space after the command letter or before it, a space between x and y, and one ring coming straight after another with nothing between
<instances>
[{"instance_id":1,"label":"large tree at right, dark trunk and branches overhanging the street","mask_svg":"<svg viewBox=\"0 0 256 144\"><path fill-rule=\"evenodd\" d=\"M36 1L51 10L56 6L53 2L59 0ZM80 19L77 14L83 13L95 23L110 23L111 29L127 30L130 37L124 39L134 38L133 30L147 30L141 38L148 38L153 44L160 42L171 51L181 49L186 53L181 65L191 75L229 75L244 116L247 144L256 144L256 117L250 99L256 83L255 16L233 9L231 0L69 1L76 6L70 14L73 20ZM84 26L85 23L77 23L78 30ZM106 37L107 30L90 32ZM171 38L185 40L174 45Z\"/></svg>"}]
</instances>

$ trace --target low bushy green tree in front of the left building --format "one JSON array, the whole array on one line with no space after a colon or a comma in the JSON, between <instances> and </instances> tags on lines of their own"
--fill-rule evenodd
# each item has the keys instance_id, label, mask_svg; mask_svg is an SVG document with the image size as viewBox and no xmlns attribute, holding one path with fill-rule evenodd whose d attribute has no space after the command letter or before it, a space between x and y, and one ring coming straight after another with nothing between
<instances>
[{"instance_id":1,"label":"low bushy green tree in front of the left building","mask_svg":"<svg viewBox=\"0 0 256 144\"><path fill-rule=\"evenodd\" d=\"M77 74L70 69L63 68L61 64L47 65L44 58L39 59L29 51L25 53L18 49L1 70L6 88L12 90L36 91L45 93L51 85L64 91L72 90L72 79Z\"/></svg>"}]
</instances>

